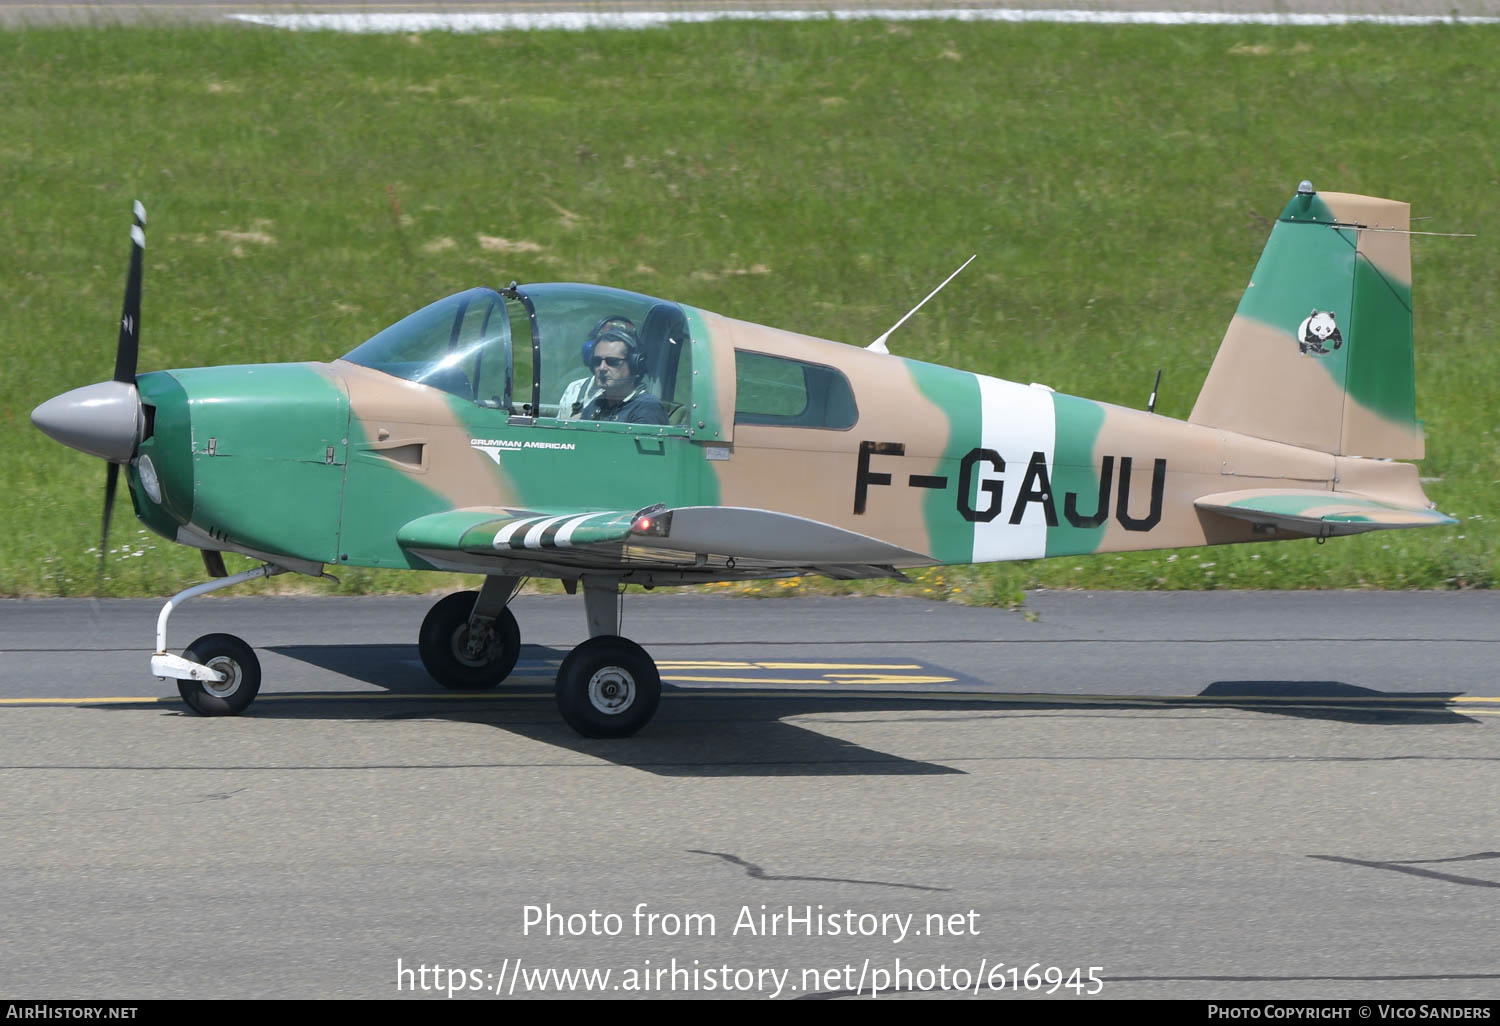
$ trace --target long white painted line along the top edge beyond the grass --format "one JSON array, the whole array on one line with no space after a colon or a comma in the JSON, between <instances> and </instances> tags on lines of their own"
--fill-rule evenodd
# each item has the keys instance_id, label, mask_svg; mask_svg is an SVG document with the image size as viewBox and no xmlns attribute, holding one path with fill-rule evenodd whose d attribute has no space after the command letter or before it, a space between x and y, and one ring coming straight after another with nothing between
<instances>
[{"instance_id":1,"label":"long white painted line along the top edge beyond the grass","mask_svg":"<svg viewBox=\"0 0 1500 1026\"><path fill-rule=\"evenodd\" d=\"M513 32L531 28L657 28L705 21L1046 21L1089 26L1494 26L1500 18L1472 15L1269 14L1222 10L1016 10L939 8L862 8L852 10L558 10L558 12L406 12L406 14L232 14L272 28L294 32Z\"/></svg>"}]
</instances>

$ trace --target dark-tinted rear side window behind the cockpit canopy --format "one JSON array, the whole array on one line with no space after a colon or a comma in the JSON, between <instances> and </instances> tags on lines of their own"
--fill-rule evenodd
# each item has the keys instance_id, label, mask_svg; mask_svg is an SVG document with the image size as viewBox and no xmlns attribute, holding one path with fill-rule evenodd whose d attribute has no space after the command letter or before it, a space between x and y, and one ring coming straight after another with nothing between
<instances>
[{"instance_id":1,"label":"dark-tinted rear side window behind the cockpit canopy","mask_svg":"<svg viewBox=\"0 0 1500 1026\"><path fill-rule=\"evenodd\" d=\"M860 411L849 378L820 363L735 350L735 423L854 428Z\"/></svg>"}]
</instances>

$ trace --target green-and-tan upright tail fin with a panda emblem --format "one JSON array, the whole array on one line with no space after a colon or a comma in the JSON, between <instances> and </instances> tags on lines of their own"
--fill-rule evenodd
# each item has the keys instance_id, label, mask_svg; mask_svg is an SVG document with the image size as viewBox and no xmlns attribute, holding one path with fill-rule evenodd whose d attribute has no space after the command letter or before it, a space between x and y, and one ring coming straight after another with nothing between
<instances>
[{"instance_id":1,"label":"green-and-tan upright tail fin with a panda emblem","mask_svg":"<svg viewBox=\"0 0 1500 1026\"><path fill-rule=\"evenodd\" d=\"M1340 456L1420 459L1410 213L1304 182L1188 420Z\"/></svg>"}]
</instances>

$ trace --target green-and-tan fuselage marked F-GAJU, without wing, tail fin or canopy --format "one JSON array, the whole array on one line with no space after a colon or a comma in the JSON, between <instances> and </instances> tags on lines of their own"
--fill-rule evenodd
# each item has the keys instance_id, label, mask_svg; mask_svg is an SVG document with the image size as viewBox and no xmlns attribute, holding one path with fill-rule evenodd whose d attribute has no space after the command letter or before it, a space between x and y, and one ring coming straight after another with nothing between
<instances>
[{"instance_id":1,"label":"green-and-tan fuselage marked F-GAJU, without wing, tail fin or canopy","mask_svg":"<svg viewBox=\"0 0 1500 1026\"><path fill-rule=\"evenodd\" d=\"M1228 489L1362 476L1420 495L1404 464L681 309L681 412L663 424L536 416L540 388L538 410L518 412L348 360L141 375L136 513L194 544L428 568L398 531L444 510L729 506L831 524L922 566L1256 538L1194 508ZM798 380L802 406L777 392Z\"/></svg>"}]
</instances>

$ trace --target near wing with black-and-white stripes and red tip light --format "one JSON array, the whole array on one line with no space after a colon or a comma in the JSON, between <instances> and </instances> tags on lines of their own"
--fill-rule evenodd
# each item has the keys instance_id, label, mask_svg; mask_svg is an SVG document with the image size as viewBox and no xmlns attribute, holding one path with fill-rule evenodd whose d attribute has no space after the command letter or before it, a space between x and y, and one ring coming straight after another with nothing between
<instances>
[{"instance_id":1,"label":"near wing with black-and-white stripes and red tip light","mask_svg":"<svg viewBox=\"0 0 1500 1026\"><path fill-rule=\"evenodd\" d=\"M726 506L448 510L411 520L396 540L438 570L558 578L590 570L662 572L684 582L795 573L898 578L897 567L934 562L820 520Z\"/></svg>"}]
</instances>

